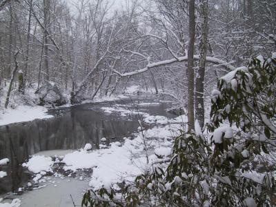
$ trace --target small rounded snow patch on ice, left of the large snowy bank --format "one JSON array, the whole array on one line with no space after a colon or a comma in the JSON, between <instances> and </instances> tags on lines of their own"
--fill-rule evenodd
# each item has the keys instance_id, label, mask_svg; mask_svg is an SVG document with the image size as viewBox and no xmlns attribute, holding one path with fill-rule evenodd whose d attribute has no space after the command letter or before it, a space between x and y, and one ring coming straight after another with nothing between
<instances>
[{"instance_id":1,"label":"small rounded snow patch on ice, left of the large snowy bank","mask_svg":"<svg viewBox=\"0 0 276 207\"><path fill-rule=\"evenodd\" d=\"M32 156L26 164L22 164L23 167L28 168L30 172L39 173L41 171L51 171L51 167L54 164L51 157L45 157L43 155Z\"/></svg>"}]
</instances>

